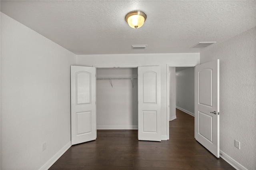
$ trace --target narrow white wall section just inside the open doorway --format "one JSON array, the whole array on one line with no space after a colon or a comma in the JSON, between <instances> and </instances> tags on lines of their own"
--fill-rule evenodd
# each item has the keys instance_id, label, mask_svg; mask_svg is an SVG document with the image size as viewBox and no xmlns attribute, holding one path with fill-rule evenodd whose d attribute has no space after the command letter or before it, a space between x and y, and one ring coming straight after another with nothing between
<instances>
[{"instance_id":1,"label":"narrow white wall section just inside the open doorway","mask_svg":"<svg viewBox=\"0 0 256 170\"><path fill-rule=\"evenodd\" d=\"M176 119L176 73L175 67L169 67L170 76L170 91L169 91L169 102L170 102L170 121Z\"/></svg>"}]
</instances>

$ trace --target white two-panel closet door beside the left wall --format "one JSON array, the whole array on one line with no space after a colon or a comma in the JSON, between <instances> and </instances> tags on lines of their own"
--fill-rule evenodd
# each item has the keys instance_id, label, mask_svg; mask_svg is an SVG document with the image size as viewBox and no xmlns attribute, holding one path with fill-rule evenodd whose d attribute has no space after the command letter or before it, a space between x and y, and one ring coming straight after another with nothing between
<instances>
[{"instance_id":1,"label":"white two-panel closet door beside the left wall","mask_svg":"<svg viewBox=\"0 0 256 170\"><path fill-rule=\"evenodd\" d=\"M71 66L71 144L95 140L95 67Z\"/></svg>"}]
</instances>

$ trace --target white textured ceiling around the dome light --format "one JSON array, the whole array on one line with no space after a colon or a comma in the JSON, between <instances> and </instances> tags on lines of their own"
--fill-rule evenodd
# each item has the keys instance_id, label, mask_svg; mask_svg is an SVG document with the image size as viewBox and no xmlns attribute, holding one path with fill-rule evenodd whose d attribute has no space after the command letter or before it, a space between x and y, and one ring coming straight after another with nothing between
<instances>
[{"instance_id":1,"label":"white textured ceiling around the dome light","mask_svg":"<svg viewBox=\"0 0 256 170\"><path fill-rule=\"evenodd\" d=\"M142 28L124 20L132 10L147 14ZM256 26L255 0L1 0L1 12L75 54L200 52L190 47Z\"/></svg>"}]
</instances>

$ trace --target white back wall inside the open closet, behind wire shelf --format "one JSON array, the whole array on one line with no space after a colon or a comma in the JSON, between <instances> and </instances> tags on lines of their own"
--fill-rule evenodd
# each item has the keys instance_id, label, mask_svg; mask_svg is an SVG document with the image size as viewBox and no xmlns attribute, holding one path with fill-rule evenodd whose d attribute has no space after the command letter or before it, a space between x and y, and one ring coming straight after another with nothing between
<instances>
[{"instance_id":1,"label":"white back wall inside the open closet, behind wire shelf","mask_svg":"<svg viewBox=\"0 0 256 170\"><path fill-rule=\"evenodd\" d=\"M97 68L96 76L97 129L138 129L138 69Z\"/></svg>"}]
</instances>

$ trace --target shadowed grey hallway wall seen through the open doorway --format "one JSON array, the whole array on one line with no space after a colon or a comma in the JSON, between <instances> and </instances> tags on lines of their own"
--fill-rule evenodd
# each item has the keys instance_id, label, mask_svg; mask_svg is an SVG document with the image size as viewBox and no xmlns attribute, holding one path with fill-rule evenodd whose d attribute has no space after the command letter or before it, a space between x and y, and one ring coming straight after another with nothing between
<instances>
[{"instance_id":1,"label":"shadowed grey hallway wall seen through the open doorway","mask_svg":"<svg viewBox=\"0 0 256 170\"><path fill-rule=\"evenodd\" d=\"M176 72L176 107L194 115L194 67Z\"/></svg>"}]
</instances>

